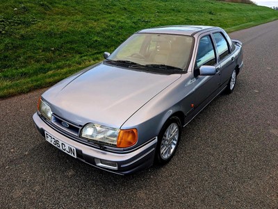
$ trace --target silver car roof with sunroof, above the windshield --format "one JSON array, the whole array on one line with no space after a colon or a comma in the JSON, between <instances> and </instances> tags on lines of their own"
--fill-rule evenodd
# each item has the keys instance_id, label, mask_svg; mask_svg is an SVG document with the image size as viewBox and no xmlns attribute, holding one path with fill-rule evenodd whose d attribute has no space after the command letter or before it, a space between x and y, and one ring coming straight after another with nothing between
<instances>
[{"instance_id":1,"label":"silver car roof with sunroof, above the windshield","mask_svg":"<svg viewBox=\"0 0 278 209\"><path fill-rule=\"evenodd\" d=\"M161 26L156 28L148 28L138 31L137 33L165 33L178 35L195 35L199 32L211 31L218 27L214 26Z\"/></svg>"}]
</instances>

